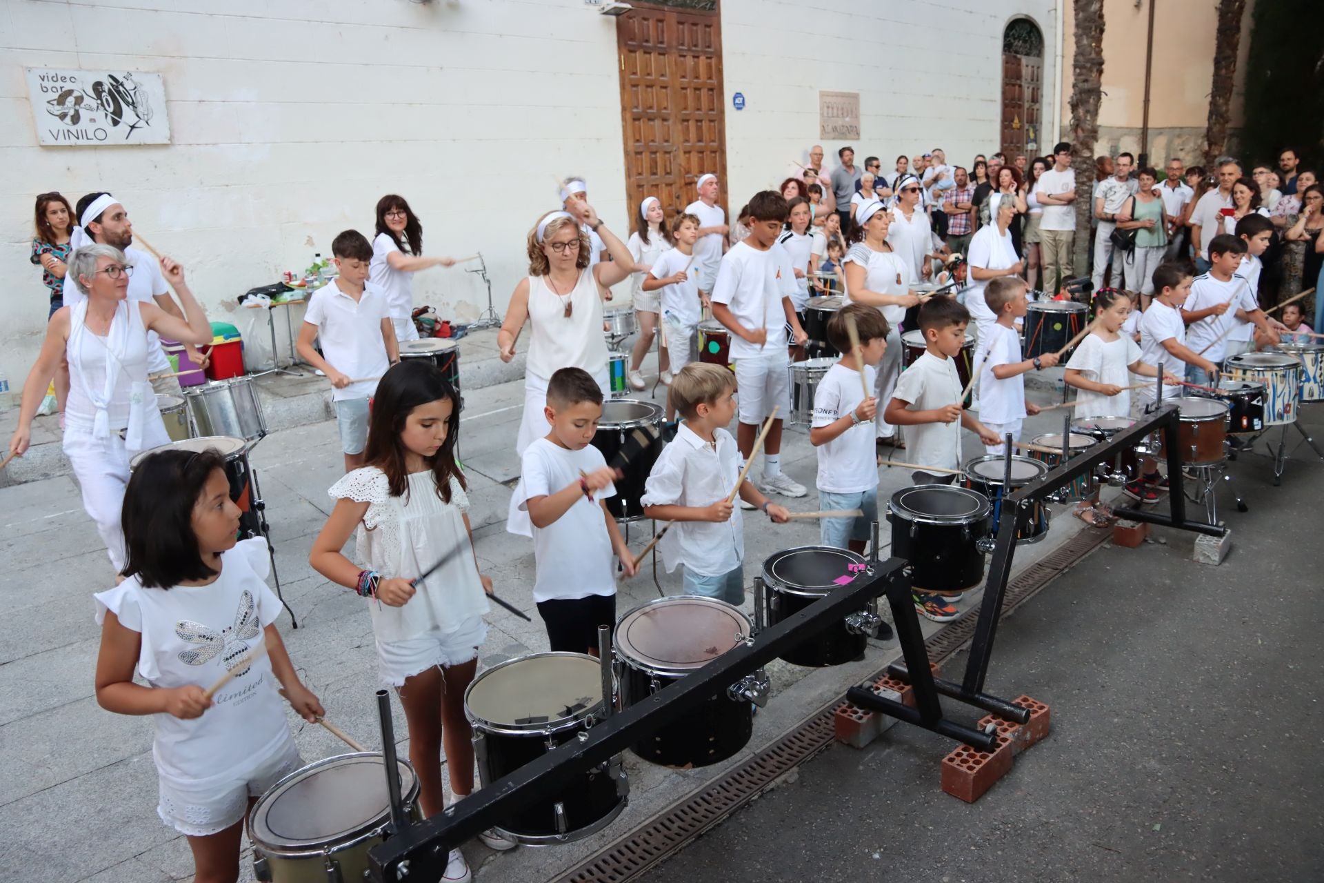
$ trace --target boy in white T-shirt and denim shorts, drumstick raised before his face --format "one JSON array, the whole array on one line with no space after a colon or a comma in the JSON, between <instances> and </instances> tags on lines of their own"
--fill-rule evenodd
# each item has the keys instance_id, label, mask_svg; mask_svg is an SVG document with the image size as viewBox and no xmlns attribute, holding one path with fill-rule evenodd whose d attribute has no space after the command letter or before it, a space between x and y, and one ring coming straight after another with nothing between
<instances>
[{"instance_id":1,"label":"boy in white T-shirt and denim shorts, drumstick raised before his face","mask_svg":"<svg viewBox=\"0 0 1324 883\"><path fill-rule=\"evenodd\" d=\"M858 356L851 352L847 322L855 323L859 335ZM876 307L850 303L833 314L828 320L828 340L845 355L818 381L809 429L809 443L818 454L818 508L862 512L854 518L820 519L818 541L859 555L878 520L878 454L873 432L878 398L866 398L865 389L874 389L874 369L887 349L888 331L887 319Z\"/></svg>"}]
</instances>

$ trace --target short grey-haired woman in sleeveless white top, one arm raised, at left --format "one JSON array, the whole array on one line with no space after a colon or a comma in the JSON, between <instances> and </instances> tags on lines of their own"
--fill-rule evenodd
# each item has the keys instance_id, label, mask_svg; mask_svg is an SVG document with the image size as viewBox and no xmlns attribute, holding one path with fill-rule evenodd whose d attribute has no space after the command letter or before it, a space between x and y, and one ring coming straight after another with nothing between
<instances>
[{"instance_id":1,"label":"short grey-haired woman in sleeveless white top, one arm raised, at left","mask_svg":"<svg viewBox=\"0 0 1324 883\"><path fill-rule=\"evenodd\" d=\"M147 330L191 346L212 342L212 326L184 285L184 267L162 258L162 273L184 306L184 319L155 303L128 301L134 271L124 253L111 245L85 245L69 256L69 271L86 295L77 306L50 316L46 339L23 385L19 428L9 451L32 443L32 418L46 387L69 361L64 450L78 478L83 508L97 523L110 563L124 567L119 514L128 483L128 461L139 451L169 443L147 380Z\"/></svg>"}]
</instances>

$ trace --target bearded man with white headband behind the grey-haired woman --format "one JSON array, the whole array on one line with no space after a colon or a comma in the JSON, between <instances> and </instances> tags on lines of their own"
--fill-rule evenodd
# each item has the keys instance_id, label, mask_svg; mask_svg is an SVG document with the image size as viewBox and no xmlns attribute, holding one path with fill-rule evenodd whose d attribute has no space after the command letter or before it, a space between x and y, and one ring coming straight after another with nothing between
<instances>
[{"instance_id":1,"label":"bearded man with white headband behind the grey-haired woman","mask_svg":"<svg viewBox=\"0 0 1324 883\"><path fill-rule=\"evenodd\" d=\"M162 275L160 265L151 254L140 249L130 248L134 241L134 224L128 220L128 212L123 204L110 193L87 193L78 200L74 213L78 217L78 226L73 229L70 245L73 250L83 245L99 244L110 245L124 253L132 265L132 275L128 277L128 299L151 302L155 301L166 312L180 319L184 312L175 303L169 294L166 278ZM65 275L65 306L74 307L87 299L73 279L73 274ZM184 347L185 355L199 367L207 367L208 359L193 347ZM177 377L162 377L159 375L172 373L175 368L166 351L162 348L160 338L155 331L147 332L147 373L151 379L152 389L160 395L180 395Z\"/></svg>"}]
</instances>

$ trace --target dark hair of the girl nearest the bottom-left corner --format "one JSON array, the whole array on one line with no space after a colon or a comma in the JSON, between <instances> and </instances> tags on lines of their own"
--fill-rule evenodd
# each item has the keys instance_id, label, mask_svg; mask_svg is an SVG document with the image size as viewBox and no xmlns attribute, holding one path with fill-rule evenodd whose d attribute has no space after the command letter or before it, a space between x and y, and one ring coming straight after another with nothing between
<instances>
[{"instance_id":1,"label":"dark hair of the girl nearest the bottom-left corner","mask_svg":"<svg viewBox=\"0 0 1324 883\"><path fill-rule=\"evenodd\" d=\"M197 548L193 507L217 469L225 471L225 458L213 447L163 450L134 466L119 514L127 553L122 576L162 589L216 576Z\"/></svg>"}]
</instances>

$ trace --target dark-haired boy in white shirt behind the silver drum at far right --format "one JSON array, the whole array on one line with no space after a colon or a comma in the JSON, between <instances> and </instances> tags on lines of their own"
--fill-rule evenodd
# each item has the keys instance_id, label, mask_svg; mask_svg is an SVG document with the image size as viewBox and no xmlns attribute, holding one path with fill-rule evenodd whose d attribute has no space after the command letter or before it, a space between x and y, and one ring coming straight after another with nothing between
<instances>
[{"instance_id":1,"label":"dark-haired boy in white shirt behind the silver drum at far right","mask_svg":"<svg viewBox=\"0 0 1324 883\"><path fill-rule=\"evenodd\" d=\"M1237 273L1246 250L1246 242L1235 236L1215 236L1209 242L1209 273L1196 277L1190 297L1181 308L1181 318L1189 326L1186 336L1190 348L1215 365L1223 363L1227 336L1235 328L1238 311L1255 323L1268 343L1278 343L1278 332L1268 326L1250 283ZM1218 385L1214 375L1196 365L1186 367L1186 380L1205 387Z\"/></svg>"}]
</instances>

